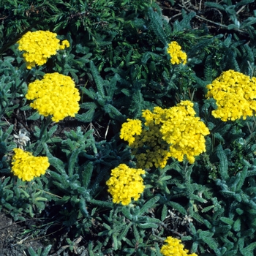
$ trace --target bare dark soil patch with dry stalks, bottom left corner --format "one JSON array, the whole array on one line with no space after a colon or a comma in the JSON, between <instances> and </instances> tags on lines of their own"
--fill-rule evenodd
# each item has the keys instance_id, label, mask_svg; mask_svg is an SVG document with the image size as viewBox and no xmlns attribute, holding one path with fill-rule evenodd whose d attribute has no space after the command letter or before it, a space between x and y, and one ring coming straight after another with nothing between
<instances>
[{"instance_id":1,"label":"bare dark soil patch with dry stalks, bottom left corner","mask_svg":"<svg viewBox=\"0 0 256 256\"><path fill-rule=\"evenodd\" d=\"M13 222L12 217L0 213L0 256L31 256L29 247L38 252L52 244L48 256L87 256L88 250L83 244L86 241L80 236L73 241L73 249L70 252L67 238L67 230L62 227L54 227L51 233L40 228L40 220L27 219L26 221ZM83 242L80 244L80 242ZM38 254L40 255L40 254Z\"/></svg>"}]
</instances>

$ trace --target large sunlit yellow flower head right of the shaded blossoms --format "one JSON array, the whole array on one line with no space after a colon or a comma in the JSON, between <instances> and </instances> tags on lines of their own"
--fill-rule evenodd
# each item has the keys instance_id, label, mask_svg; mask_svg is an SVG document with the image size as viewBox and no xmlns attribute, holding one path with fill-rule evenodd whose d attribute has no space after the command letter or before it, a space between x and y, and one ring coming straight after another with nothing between
<instances>
[{"instance_id":1,"label":"large sunlit yellow flower head right of the shaded blossoms","mask_svg":"<svg viewBox=\"0 0 256 256\"><path fill-rule=\"evenodd\" d=\"M185 100L165 110L160 129L162 139L170 145L170 155L180 162L186 155L191 164L195 162L195 156L206 151L204 136L210 133L203 121L195 117L192 107L193 103Z\"/></svg>"}]
</instances>

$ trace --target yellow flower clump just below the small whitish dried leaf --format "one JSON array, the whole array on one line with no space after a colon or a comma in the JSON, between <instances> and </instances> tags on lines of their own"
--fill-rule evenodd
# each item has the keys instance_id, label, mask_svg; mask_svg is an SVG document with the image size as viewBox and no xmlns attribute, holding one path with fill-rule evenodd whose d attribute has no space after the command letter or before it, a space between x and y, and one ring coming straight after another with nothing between
<instances>
[{"instance_id":1,"label":"yellow flower clump just below the small whitish dried leaf","mask_svg":"<svg viewBox=\"0 0 256 256\"><path fill-rule=\"evenodd\" d=\"M34 177L45 174L50 166L48 157L34 157L30 152L14 148L12 157L12 173L23 181L31 181Z\"/></svg>"}]
</instances>

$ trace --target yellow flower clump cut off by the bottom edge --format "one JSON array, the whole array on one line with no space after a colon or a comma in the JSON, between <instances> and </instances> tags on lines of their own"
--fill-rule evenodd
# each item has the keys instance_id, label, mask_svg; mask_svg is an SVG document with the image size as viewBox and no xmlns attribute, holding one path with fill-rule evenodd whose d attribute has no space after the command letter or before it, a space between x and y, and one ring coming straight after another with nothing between
<instances>
[{"instance_id":1,"label":"yellow flower clump cut off by the bottom edge","mask_svg":"<svg viewBox=\"0 0 256 256\"><path fill-rule=\"evenodd\" d=\"M184 245L181 244L181 240L167 236L165 239L165 245L162 246L160 252L165 256L197 256L197 254L188 254L188 250L184 249Z\"/></svg>"}]
</instances>

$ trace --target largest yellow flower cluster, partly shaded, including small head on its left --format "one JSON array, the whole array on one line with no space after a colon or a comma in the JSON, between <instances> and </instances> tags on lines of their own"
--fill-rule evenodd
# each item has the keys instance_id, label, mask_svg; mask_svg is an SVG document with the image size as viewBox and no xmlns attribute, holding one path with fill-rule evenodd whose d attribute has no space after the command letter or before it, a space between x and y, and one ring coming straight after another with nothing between
<instances>
[{"instance_id":1,"label":"largest yellow flower cluster, partly shaded, including small head on its left","mask_svg":"<svg viewBox=\"0 0 256 256\"><path fill-rule=\"evenodd\" d=\"M193 103L182 101L169 109L143 110L145 127L140 121L129 119L121 127L120 137L133 148L138 167L165 167L170 157L183 161L186 155L189 163L195 156L206 151L204 136L209 130L199 117L195 117ZM141 153L142 151L142 153Z\"/></svg>"}]
</instances>

